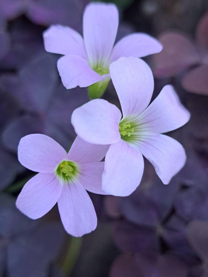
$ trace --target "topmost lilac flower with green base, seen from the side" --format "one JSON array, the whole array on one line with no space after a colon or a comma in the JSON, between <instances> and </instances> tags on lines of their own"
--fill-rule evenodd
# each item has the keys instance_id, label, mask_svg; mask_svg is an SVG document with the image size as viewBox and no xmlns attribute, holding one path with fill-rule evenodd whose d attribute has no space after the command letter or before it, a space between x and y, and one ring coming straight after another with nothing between
<instances>
[{"instance_id":1,"label":"topmost lilac flower with green base, seen from the side","mask_svg":"<svg viewBox=\"0 0 208 277\"><path fill-rule=\"evenodd\" d=\"M45 50L65 55L58 61L58 70L67 89L89 86L90 98L99 98L110 80L113 61L162 50L158 40L142 33L128 35L113 47L117 29L118 9L114 4L90 3L83 14L83 38L61 25L52 25L44 32Z\"/></svg>"}]
</instances>

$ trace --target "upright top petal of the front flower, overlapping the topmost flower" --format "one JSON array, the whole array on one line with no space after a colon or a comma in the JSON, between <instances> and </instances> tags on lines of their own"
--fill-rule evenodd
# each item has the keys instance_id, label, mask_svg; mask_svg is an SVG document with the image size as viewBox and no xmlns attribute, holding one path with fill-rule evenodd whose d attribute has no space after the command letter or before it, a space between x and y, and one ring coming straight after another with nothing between
<instances>
[{"instance_id":1,"label":"upright top petal of the front flower, overlapping the topmost flower","mask_svg":"<svg viewBox=\"0 0 208 277\"><path fill-rule=\"evenodd\" d=\"M143 112L154 89L149 66L138 58L120 58L111 63L110 74L121 103L123 117Z\"/></svg>"}]
</instances>

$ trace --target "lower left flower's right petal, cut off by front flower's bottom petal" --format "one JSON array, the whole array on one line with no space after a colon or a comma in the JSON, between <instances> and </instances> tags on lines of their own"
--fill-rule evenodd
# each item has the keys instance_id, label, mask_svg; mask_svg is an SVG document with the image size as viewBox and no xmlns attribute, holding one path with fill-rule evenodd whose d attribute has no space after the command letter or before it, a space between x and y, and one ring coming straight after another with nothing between
<instances>
[{"instance_id":1,"label":"lower left flower's right petal, cut off by front flower's bottom petal","mask_svg":"<svg viewBox=\"0 0 208 277\"><path fill-rule=\"evenodd\" d=\"M97 163L85 163L80 168L80 183L87 191L97 194L107 194L102 190L102 174L104 161Z\"/></svg>"}]
</instances>

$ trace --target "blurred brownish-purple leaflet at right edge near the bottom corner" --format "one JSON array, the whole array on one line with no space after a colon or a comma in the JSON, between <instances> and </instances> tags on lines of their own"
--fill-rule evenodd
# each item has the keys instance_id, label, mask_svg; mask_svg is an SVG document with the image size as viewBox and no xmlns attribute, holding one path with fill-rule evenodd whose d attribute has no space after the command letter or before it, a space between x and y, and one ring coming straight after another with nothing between
<instances>
[{"instance_id":1,"label":"blurred brownish-purple leaflet at right edge near the bottom corner","mask_svg":"<svg viewBox=\"0 0 208 277\"><path fill-rule=\"evenodd\" d=\"M199 257L208 260L208 222L203 220L192 220L187 225L186 236L191 247Z\"/></svg>"}]
</instances>

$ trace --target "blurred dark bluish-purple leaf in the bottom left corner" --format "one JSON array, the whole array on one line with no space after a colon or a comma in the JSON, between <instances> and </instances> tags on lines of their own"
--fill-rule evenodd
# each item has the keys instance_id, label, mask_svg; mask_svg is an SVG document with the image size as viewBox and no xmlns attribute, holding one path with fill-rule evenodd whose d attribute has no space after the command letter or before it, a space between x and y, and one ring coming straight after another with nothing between
<instances>
[{"instance_id":1,"label":"blurred dark bluish-purple leaf in the bottom left corner","mask_svg":"<svg viewBox=\"0 0 208 277\"><path fill-rule=\"evenodd\" d=\"M31 220L16 209L14 198L1 194L0 226L1 276L49 276L64 242L61 224Z\"/></svg>"}]
</instances>

